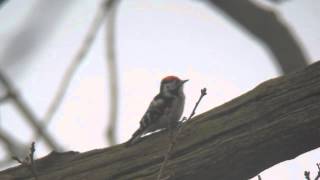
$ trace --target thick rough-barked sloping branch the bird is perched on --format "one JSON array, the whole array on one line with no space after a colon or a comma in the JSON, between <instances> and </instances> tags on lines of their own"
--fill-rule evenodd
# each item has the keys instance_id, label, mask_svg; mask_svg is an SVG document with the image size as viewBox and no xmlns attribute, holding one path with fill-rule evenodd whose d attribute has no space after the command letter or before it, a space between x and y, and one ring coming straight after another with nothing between
<instances>
[{"instance_id":1,"label":"thick rough-barked sloping branch the bird is perched on","mask_svg":"<svg viewBox=\"0 0 320 180\"><path fill-rule=\"evenodd\" d=\"M319 128L320 62L266 81L186 122L164 177L248 179L319 147ZM154 180L167 151L167 135L156 133L131 147L52 153L35 161L37 173L44 180ZM1 176L31 179L21 166L2 171Z\"/></svg>"}]
</instances>

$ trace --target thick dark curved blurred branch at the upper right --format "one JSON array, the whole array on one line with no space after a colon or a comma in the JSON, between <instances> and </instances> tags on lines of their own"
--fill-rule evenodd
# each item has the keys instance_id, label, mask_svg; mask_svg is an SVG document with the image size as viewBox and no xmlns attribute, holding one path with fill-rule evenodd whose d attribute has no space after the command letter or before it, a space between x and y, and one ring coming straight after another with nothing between
<instances>
[{"instance_id":1,"label":"thick dark curved blurred branch at the upper right","mask_svg":"<svg viewBox=\"0 0 320 180\"><path fill-rule=\"evenodd\" d=\"M308 61L289 28L270 8L248 0L207 0L265 44L283 73L307 66Z\"/></svg>"}]
</instances>

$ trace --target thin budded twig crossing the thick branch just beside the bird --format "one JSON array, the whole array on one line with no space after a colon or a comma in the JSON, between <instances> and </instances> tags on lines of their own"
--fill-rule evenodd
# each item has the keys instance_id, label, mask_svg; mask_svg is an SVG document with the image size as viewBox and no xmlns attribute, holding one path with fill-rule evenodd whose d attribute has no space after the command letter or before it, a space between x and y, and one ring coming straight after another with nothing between
<instances>
[{"instance_id":1,"label":"thin budded twig crossing the thick branch just beside the bird","mask_svg":"<svg viewBox=\"0 0 320 180\"><path fill-rule=\"evenodd\" d=\"M197 109L200 101L202 100L202 98L203 98L205 95L207 95L207 89L206 89L206 88L203 88L203 89L201 89L201 95L200 95L198 101L196 102L196 105L194 106L194 108L193 108L193 110L192 110L189 118L187 119L186 117L183 117L182 122L184 122L184 121L189 121L189 120L195 115L195 111L196 111L196 109ZM169 148L168 148L167 153L166 153L165 156L164 156L164 160L162 161L162 164L161 164L161 167L160 167L160 170L159 170L159 174L158 174L157 180L165 180L165 179L169 179L169 178L170 178L170 176L167 176L167 177L165 177L165 178L161 178L161 176L162 176L162 174L163 174L163 170L164 170L165 165L167 164L168 160L170 159L171 152L172 152L172 150L173 150L173 147L174 147L175 144L177 143L177 137L178 137L178 135L181 133L181 131L182 131L182 126L183 126L183 125L181 125L181 126L179 127L179 130L178 130L177 134L176 134L175 136L173 136L173 129L172 129L170 123L168 123L168 124L169 124L169 131L170 131L170 132L169 132L170 145L169 145Z\"/></svg>"}]
</instances>

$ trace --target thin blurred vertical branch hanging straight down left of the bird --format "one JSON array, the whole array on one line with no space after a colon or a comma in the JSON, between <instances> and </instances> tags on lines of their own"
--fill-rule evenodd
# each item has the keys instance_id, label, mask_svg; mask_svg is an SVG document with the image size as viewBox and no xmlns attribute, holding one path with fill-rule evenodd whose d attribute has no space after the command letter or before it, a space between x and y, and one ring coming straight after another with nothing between
<instances>
[{"instance_id":1,"label":"thin blurred vertical branch hanging straight down left of the bird","mask_svg":"<svg viewBox=\"0 0 320 180\"><path fill-rule=\"evenodd\" d=\"M107 19L106 27L106 52L107 52L107 70L109 75L109 126L107 128L107 139L110 145L116 144L116 129L118 119L118 73L116 65L116 15L119 0L110 7L110 14Z\"/></svg>"}]
</instances>

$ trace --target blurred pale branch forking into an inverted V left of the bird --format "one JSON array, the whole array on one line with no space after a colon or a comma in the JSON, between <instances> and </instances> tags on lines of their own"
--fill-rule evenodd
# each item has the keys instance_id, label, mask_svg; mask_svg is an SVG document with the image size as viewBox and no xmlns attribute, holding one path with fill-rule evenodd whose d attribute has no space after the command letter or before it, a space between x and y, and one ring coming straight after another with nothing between
<instances>
[{"instance_id":1,"label":"blurred pale branch forking into an inverted V left of the bird","mask_svg":"<svg viewBox=\"0 0 320 180\"><path fill-rule=\"evenodd\" d=\"M84 61L84 57L90 50L90 47L92 46L92 43L97 35L97 32L99 28L101 27L103 20L106 18L107 13L109 11L109 25L107 25L108 33L107 33L107 63L108 63L108 71L109 71L109 85L110 85L110 125L108 128L108 140L111 145L116 143L115 138L115 131L116 128L116 121L117 121L117 107L118 107L118 85L117 85L117 72L116 72L116 63L115 63L115 48L114 48L114 18L115 18L115 6L118 4L119 1L113 1L113 0L104 0L102 1L101 5L99 6L99 9L97 10L97 13L95 15L95 18L90 25L90 29L88 33L86 34L86 37L84 41L82 42L81 47L78 49L74 59L72 60L71 64L69 65L67 71L65 72L61 84L59 85L58 91L51 102L49 109L47 113L45 114L45 124L49 124L52 120L53 115L57 111L57 109L60 107L65 94L67 92L67 89L71 83L71 80L79 68L79 66ZM110 27L110 28L109 28Z\"/></svg>"}]
</instances>

